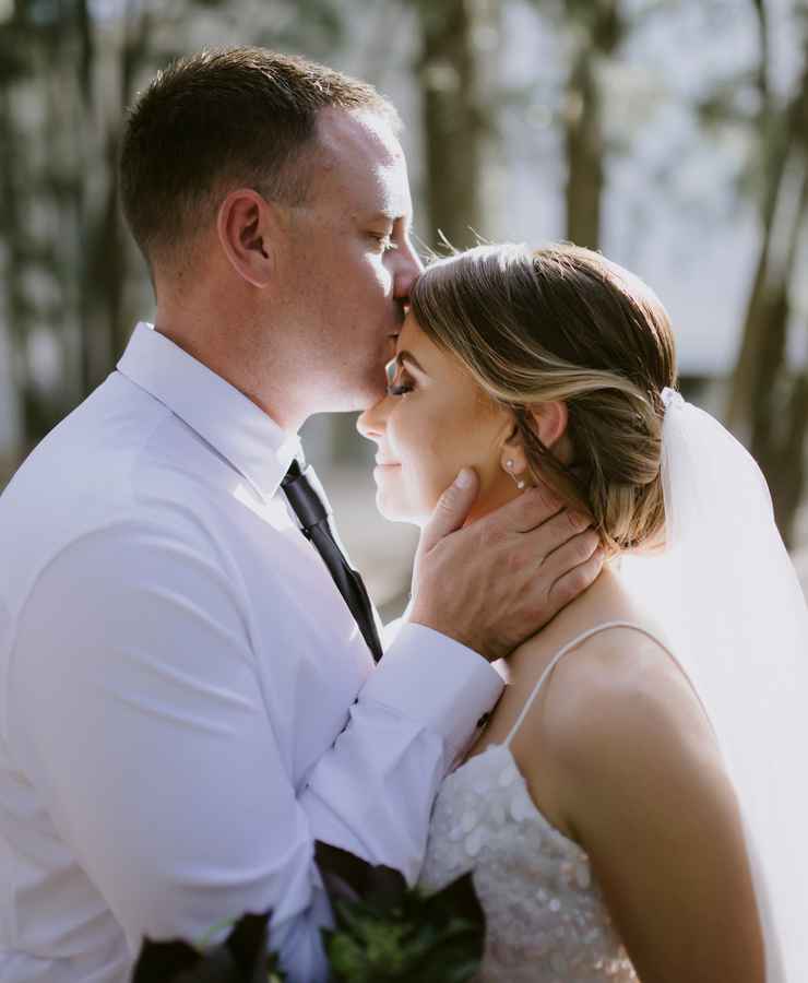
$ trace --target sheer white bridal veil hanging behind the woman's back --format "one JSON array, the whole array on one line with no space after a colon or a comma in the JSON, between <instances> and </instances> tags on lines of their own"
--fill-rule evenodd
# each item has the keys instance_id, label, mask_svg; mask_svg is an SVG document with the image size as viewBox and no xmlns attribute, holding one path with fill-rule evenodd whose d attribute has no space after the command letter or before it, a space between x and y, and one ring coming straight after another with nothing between
<instances>
[{"instance_id":1,"label":"sheer white bridal veil hanging behind the woman's back","mask_svg":"<svg viewBox=\"0 0 808 983\"><path fill-rule=\"evenodd\" d=\"M763 475L712 416L663 391L666 546L620 575L658 617L735 783L768 983L808 979L808 608ZM687 803L682 803L687 808Z\"/></svg>"}]
</instances>

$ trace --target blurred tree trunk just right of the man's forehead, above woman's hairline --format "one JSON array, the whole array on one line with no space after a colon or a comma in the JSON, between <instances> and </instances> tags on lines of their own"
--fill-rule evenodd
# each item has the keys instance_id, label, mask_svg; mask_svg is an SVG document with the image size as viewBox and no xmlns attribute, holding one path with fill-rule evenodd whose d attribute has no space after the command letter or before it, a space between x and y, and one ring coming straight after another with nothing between
<instances>
[{"instance_id":1,"label":"blurred tree trunk just right of the man's forehead, above woman's hairline","mask_svg":"<svg viewBox=\"0 0 808 983\"><path fill-rule=\"evenodd\" d=\"M489 225L485 168L494 131L491 94L498 48L494 0L415 0L421 37L429 245L445 237L475 245Z\"/></svg>"}]
</instances>

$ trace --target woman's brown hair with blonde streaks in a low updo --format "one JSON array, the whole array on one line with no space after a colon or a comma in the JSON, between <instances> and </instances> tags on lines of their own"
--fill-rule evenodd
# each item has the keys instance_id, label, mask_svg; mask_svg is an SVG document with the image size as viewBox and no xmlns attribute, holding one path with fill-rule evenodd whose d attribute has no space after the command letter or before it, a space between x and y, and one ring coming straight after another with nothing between
<instances>
[{"instance_id":1,"label":"woman's brown hair with blonde streaks in a low updo","mask_svg":"<svg viewBox=\"0 0 808 983\"><path fill-rule=\"evenodd\" d=\"M657 537L661 392L676 383L676 354L644 283L577 246L478 246L429 265L411 304L426 334L513 411L534 479L590 514L608 552ZM556 400L569 414L570 466L542 443L531 414Z\"/></svg>"}]
</instances>

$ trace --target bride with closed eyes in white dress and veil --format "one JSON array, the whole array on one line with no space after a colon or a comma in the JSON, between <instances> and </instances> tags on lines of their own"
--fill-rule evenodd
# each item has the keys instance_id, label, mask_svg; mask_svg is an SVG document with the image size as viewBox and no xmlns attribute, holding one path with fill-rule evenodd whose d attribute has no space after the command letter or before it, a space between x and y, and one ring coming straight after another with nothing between
<instances>
[{"instance_id":1,"label":"bride with closed eyes in white dress and veil","mask_svg":"<svg viewBox=\"0 0 808 983\"><path fill-rule=\"evenodd\" d=\"M501 666L421 884L474 872L483 980L797 983L808 615L759 471L674 392L660 301L596 253L478 247L411 301L359 419L381 511L425 522L471 464L468 521L546 483L611 557Z\"/></svg>"}]
</instances>

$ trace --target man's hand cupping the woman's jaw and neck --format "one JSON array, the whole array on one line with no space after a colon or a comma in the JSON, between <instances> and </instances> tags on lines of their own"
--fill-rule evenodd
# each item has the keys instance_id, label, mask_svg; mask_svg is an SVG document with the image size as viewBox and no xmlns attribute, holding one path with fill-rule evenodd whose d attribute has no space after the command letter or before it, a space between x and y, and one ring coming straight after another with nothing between
<instances>
[{"instance_id":1,"label":"man's hand cupping the woman's jaw and neck","mask_svg":"<svg viewBox=\"0 0 808 983\"><path fill-rule=\"evenodd\" d=\"M479 481L471 469L459 481L421 533L409 620L494 662L590 587L603 555L589 520L545 485L462 529Z\"/></svg>"}]
</instances>

